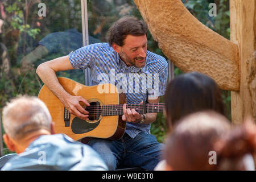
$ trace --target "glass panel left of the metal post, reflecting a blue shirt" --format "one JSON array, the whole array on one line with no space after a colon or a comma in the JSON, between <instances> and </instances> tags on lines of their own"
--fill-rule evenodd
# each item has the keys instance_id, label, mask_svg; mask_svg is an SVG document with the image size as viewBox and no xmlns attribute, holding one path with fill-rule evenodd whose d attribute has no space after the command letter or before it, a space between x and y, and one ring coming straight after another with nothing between
<instances>
[{"instance_id":1,"label":"glass panel left of the metal post, reflecting a blue shirt","mask_svg":"<svg viewBox=\"0 0 256 182\"><path fill-rule=\"evenodd\" d=\"M81 1L0 0L0 111L18 94L37 96L35 69L82 47ZM84 73L57 76L84 83Z\"/></svg>"}]
</instances>

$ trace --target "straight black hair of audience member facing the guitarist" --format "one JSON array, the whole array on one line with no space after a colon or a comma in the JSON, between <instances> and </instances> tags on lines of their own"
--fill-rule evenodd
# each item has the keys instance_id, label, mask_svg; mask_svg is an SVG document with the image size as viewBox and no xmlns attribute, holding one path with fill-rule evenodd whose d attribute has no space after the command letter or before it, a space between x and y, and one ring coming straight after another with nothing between
<instances>
[{"instance_id":1,"label":"straight black hair of audience member facing the guitarist","mask_svg":"<svg viewBox=\"0 0 256 182\"><path fill-rule=\"evenodd\" d=\"M218 85L212 78L199 72L184 73L175 77L167 85L164 102L169 126L196 111L209 109L224 114Z\"/></svg>"}]
</instances>

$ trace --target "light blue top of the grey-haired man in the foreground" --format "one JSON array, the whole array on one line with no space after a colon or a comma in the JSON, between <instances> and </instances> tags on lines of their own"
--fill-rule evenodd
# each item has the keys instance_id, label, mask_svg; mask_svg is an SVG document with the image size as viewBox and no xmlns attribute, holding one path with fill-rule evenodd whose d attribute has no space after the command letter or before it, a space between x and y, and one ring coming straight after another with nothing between
<instances>
[{"instance_id":1,"label":"light blue top of the grey-haired man in the foreground","mask_svg":"<svg viewBox=\"0 0 256 182\"><path fill-rule=\"evenodd\" d=\"M90 146L64 134L42 135L26 150L10 159L5 170L108 170Z\"/></svg>"}]
</instances>

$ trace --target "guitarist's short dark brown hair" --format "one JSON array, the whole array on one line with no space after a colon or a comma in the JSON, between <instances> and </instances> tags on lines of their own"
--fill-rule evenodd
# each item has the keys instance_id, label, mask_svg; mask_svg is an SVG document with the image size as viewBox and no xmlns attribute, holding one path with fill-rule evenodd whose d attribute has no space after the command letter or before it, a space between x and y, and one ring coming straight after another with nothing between
<instances>
[{"instance_id":1,"label":"guitarist's short dark brown hair","mask_svg":"<svg viewBox=\"0 0 256 182\"><path fill-rule=\"evenodd\" d=\"M123 46L123 40L127 35L142 36L147 34L147 24L143 20L132 16L125 16L119 19L109 28L107 39L109 46L113 43Z\"/></svg>"}]
</instances>

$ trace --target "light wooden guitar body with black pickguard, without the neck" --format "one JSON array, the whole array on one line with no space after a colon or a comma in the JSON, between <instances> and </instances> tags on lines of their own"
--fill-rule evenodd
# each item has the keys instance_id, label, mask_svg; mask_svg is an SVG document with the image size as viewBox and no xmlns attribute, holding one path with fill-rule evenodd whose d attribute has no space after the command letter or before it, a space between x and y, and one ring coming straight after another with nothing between
<instances>
[{"instance_id":1,"label":"light wooden guitar body with black pickguard, without the neck","mask_svg":"<svg viewBox=\"0 0 256 182\"><path fill-rule=\"evenodd\" d=\"M125 94L116 92L115 86L112 84L85 86L69 78L58 77L58 79L69 94L82 96L92 106L94 104L95 106L102 106L126 103ZM98 92L98 86L101 90L105 89L105 92ZM42 86L38 98L48 107L52 121L55 122L56 133L64 133L74 140L92 138L117 140L125 132L126 123L122 121L121 115L102 116L101 110L97 110L96 113L99 114L95 118L84 121L75 115L69 114L59 98L46 85Z\"/></svg>"}]
</instances>

